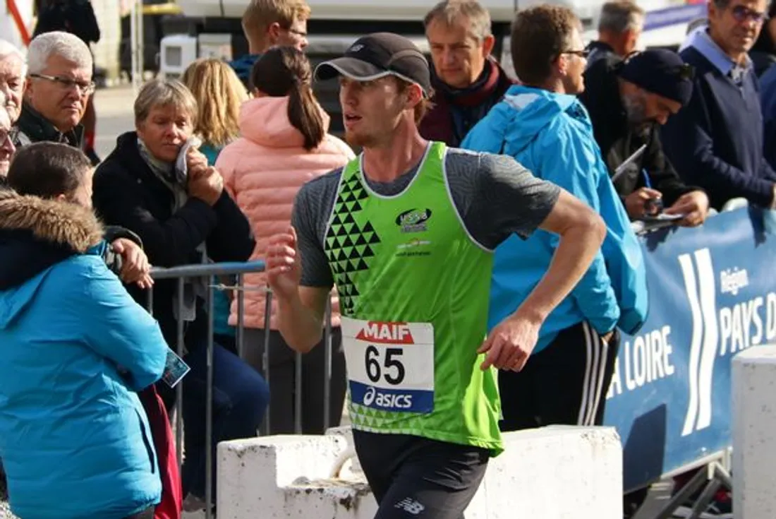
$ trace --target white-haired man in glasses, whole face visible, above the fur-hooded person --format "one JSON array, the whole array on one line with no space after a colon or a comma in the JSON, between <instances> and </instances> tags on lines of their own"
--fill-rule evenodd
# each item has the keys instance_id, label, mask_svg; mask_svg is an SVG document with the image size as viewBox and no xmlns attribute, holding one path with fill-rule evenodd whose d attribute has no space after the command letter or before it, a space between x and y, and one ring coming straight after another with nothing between
<instances>
[{"instance_id":1,"label":"white-haired man in glasses, whole face visible, above the fur-hooded person","mask_svg":"<svg viewBox=\"0 0 776 519\"><path fill-rule=\"evenodd\" d=\"M82 148L81 119L95 89L86 44L70 33L43 33L29 44L27 68L17 147L51 141Z\"/></svg>"}]
</instances>

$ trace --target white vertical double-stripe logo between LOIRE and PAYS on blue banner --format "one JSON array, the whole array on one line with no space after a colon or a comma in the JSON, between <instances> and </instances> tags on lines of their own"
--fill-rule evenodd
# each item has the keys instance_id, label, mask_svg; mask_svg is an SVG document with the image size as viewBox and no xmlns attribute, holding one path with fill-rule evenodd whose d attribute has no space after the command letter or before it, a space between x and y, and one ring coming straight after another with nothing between
<instances>
[{"instance_id":1,"label":"white vertical double-stripe logo between LOIRE and PAYS on blue banner","mask_svg":"<svg viewBox=\"0 0 776 519\"><path fill-rule=\"evenodd\" d=\"M682 436L703 430L712 423L712 378L717 355L716 284L712 255L708 249L679 256L684 290L692 315L688 379L690 401Z\"/></svg>"}]
</instances>

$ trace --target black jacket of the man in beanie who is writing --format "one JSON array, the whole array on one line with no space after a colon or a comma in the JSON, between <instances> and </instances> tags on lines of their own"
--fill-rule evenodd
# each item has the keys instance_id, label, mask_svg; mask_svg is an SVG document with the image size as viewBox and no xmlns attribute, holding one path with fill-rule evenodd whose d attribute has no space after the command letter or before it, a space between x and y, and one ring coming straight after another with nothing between
<instances>
[{"instance_id":1,"label":"black jacket of the man in beanie who is writing","mask_svg":"<svg viewBox=\"0 0 776 519\"><path fill-rule=\"evenodd\" d=\"M645 187L642 169L646 169L651 186L663 193L663 202L668 207L684 193L698 190L682 182L674 166L663 153L660 132L656 126L641 131L628 122L625 107L620 97L617 65L622 61L614 54L596 61L584 72L585 89L580 94L593 122L593 133L598 147L601 148L609 174L614 175L625 159L629 158L642 145L648 145L636 164L615 181L620 197Z\"/></svg>"}]
</instances>

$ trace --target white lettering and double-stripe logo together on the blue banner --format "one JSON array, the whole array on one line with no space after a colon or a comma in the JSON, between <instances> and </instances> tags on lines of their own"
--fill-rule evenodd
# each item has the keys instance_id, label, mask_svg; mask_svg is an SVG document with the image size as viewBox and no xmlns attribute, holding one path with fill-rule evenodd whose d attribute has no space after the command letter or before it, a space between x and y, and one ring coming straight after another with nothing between
<instances>
[{"instance_id":1,"label":"white lettering and double-stripe logo together on the blue banner","mask_svg":"<svg viewBox=\"0 0 776 519\"><path fill-rule=\"evenodd\" d=\"M709 249L681 254L677 260L682 279L667 279L665 284L670 293L681 291L683 284L689 312L674 315L671 324L650 321L638 335L625 336L606 398L678 374L674 369L678 354L688 364L687 373L679 374L688 384L682 428L682 436L687 436L711 425L716 359L776 340L776 292L748 294L762 290L751 277L756 276L753 267L716 271ZM719 298L723 306L717 308ZM674 344L672 325L681 329L681 344Z\"/></svg>"}]
</instances>

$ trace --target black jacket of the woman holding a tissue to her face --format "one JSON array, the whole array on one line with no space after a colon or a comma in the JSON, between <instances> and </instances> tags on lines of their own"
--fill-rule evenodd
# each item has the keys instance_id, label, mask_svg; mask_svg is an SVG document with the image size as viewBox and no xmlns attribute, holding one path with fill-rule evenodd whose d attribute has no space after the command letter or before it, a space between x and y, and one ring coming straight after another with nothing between
<instances>
[{"instance_id":1,"label":"black jacket of the woman holding a tissue to her face","mask_svg":"<svg viewBox=\"0 0 776 519\"><path fill-rule=\"evenodd\" d=\"M97 168L92 201L106 224L120 225L140 236L154 266L201 263L196 248L203 242L213 261L246 261L256 245L248 218L225 190L213 207L191 197L173 214L173 194L140 156L135 132L121 135L116 149ZM147 305L144 291L129 290L136 301ZM176 343L172 308L176 290L175 280L154 285L154 316L171 345ZM196 322L187 331L189 350L195 346L189 339L200 343L206 338L204 333L206 313L199 301Z\"/></svg>"}]
</instances>

